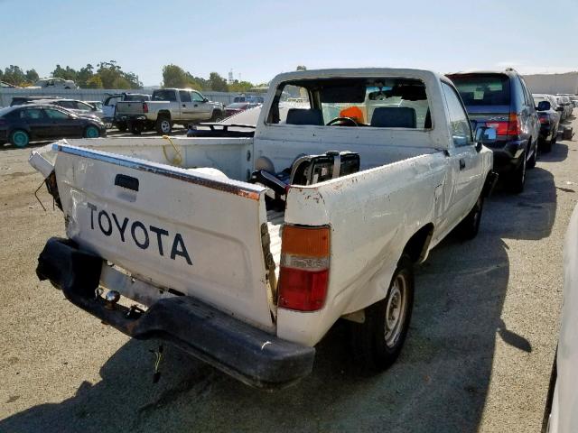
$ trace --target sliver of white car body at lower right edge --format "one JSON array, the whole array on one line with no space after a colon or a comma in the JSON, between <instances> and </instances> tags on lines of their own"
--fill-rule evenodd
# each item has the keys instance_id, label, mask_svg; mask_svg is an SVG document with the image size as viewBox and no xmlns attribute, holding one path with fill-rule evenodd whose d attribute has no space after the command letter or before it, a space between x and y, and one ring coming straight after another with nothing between
<instances>
[{"instance_id":1,"label":"sliver of white car body at lower right edge","mask_svg":"<svg viewBox=\"0 0 578 433\"><path fill-rule=\"evenodd\" d=\"M564 302L560 336L545 402L542 432L578 431L578 207L564 244Z\"/></svg>"}]
</instances>

